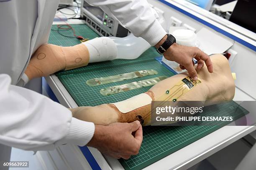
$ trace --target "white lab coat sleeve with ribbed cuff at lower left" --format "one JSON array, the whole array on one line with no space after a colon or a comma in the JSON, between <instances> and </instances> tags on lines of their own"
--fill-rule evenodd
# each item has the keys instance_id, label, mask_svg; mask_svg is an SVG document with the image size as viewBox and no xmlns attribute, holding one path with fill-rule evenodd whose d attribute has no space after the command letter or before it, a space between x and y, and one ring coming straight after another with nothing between
<instances>
[{"instance_id":1,"label":"white lab coat sleeve with ribbed cuff at lower left","mask_svg":"<svg viewBox=\"0 0 256 170\"><path fill-rule=\"evenodd\" d=\"M86 145L95 125L72 117L64 106L0 74L0 143L24 150L52 150L58 145Z\"/></svg>"}]
</instances>

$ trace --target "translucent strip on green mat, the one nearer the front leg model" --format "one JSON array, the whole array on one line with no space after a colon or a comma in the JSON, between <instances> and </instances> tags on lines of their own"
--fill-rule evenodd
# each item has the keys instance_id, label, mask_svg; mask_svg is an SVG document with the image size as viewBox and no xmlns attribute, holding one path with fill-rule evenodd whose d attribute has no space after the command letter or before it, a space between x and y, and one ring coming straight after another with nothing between
<instances>
[{"instance_id":1,"label":"translucent strip on green mat, the one nearer the front leg model","mask_svg":"<svg viewBox=\"0 0 256 170\"><path fill-rule=\"evenodd\" d=\"M137 82L130 82L130 83L123 84L123 85L107 87L107 88L101 89L100 94L108 96L108 95L118 94L120 92L127 92L129 90L134 90L134 89L138 89L141 87L155 85L159 81L164 80L166 78L167 78L167 76L160 76L160 77L154 77L154 78L141 80L141 81L137 81Z\"/></svg>"}]
</instances>

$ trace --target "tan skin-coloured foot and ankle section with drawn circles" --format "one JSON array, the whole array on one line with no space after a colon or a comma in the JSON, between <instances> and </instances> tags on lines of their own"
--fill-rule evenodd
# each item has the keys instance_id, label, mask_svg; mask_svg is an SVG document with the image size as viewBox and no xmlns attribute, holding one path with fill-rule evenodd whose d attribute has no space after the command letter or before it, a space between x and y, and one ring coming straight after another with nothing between
<instances>
[{"instance_id":1,"label":"tan skin-coloured foot and ankle section with drawn circles","mask_svg":"<svg viewBox=\"0 0 256 170\"><path fill-rule=\"evenodd\" d=\"M88 62L89 52L83 44L73 47L44 44L32 55L25 74L31 80L60 70L82 67L87 65Z\"/></svg>"}]
</instances>

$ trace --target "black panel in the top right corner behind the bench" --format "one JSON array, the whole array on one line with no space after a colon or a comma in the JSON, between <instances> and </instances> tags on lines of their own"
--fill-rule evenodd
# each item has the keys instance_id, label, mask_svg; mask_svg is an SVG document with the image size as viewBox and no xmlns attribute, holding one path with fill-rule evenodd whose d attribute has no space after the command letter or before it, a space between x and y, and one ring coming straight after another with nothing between
<instances>
[{"instance_id":1,"label":"black panel in the top right corner behind the bench","mask_svg":"<svg viewBox=\"0 0 256 170\"><path fill-rule=\"evenodd\" d=\"M230 21L256 33L256 0L238 0Z\"/></svg>"}]
</instances>

